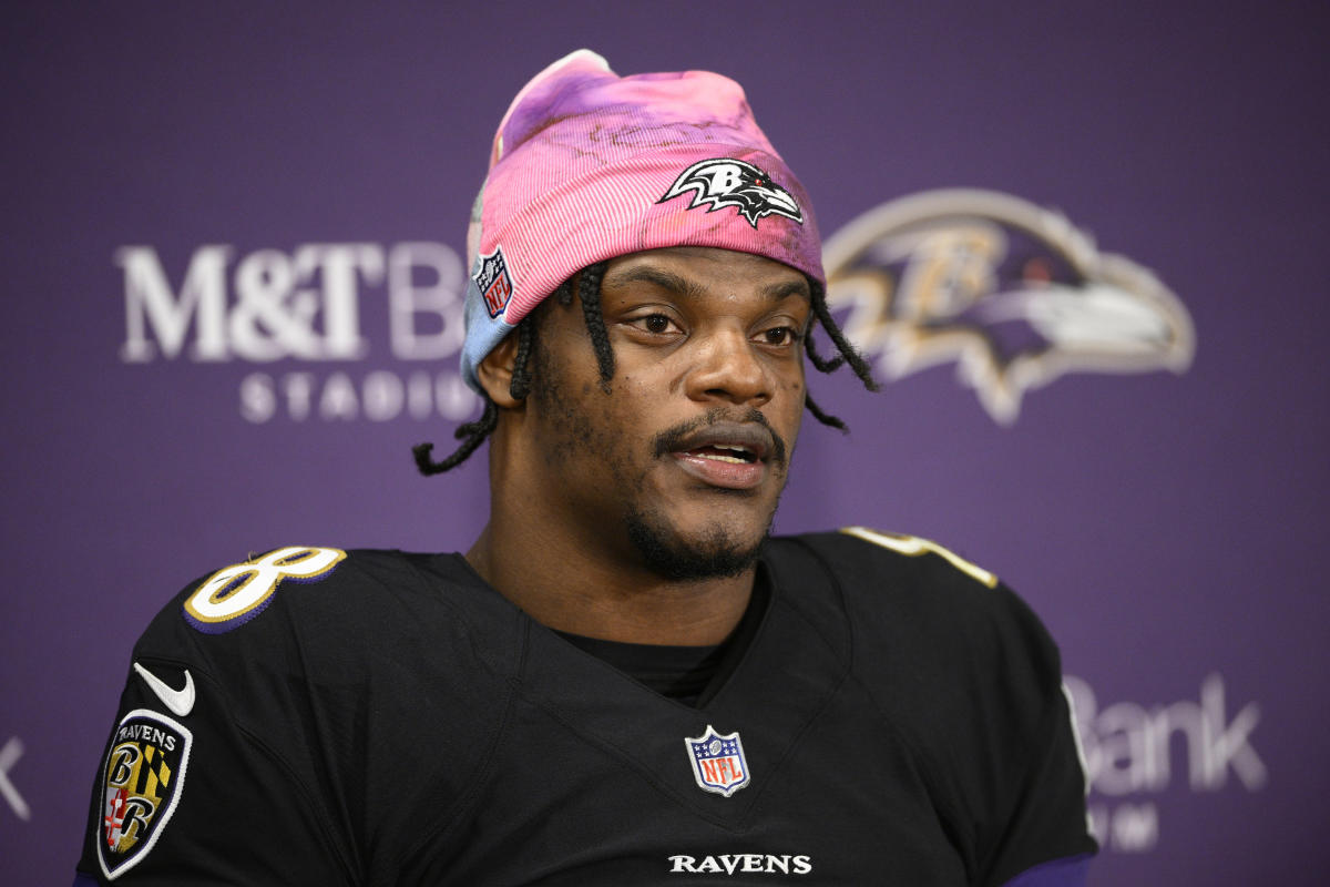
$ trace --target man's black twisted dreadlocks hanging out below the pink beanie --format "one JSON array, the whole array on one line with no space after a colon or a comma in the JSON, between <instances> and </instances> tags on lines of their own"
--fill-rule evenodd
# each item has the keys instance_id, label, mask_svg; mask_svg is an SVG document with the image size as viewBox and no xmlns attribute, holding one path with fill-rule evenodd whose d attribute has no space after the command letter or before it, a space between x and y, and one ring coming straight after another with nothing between
<instances>
[{"instance_id":1,"label":"man's black twisted dreadlocks hanging out below the pink beanie","mask_svg":"<svg viewBox=\"0 0 1330 887\"><path fill-rule=\"evenodd\" d=\"M614 350L609 346L609 331L605 328L605 315L600 306L600 285L605 277L605 262L597 262L584 267L577 271L571 278L559 285L553 291L553 297L559 299L560 305L571 305L573 301L573 291L577 293L581 299L583 306L583 319L587 323L587 332L591 335L592 348L596 352L596 364L600 370L600 387L601 391L609 394L610 380L614 378ZM809 355L809 362L819 372L835 372L841 366L849 363L854 375L863 382L863 386L868 391L876 391L878 383L872 378L872 370L868 363L863 359L863 355L850 344L850 340L845 338L845 332L841 331L839 324L831 317L831 310L827 307L826 301L826 287L814 279L809 279L809 286L813 297L813 317L830 336L831 343L837 347L837 356L823 358L818 352L817 346L813 342L813 330L809 328L809 334L803 336L803 350ZM517 323L517 352L513 355L512 360L512 380L508 383L508 392L517 400L524 400L528 394L531 394L531 351L535 347L536 340L536 327L533 326L535 317L528 314ZM456 468L463 461L467 460L471 453L484 443L485 438L493 434L493 430L499 424L499 408L495 402L489 399L488 395L481 392L480 395L484 402L484 412L475 422L468 422L467 424L458 428L454 432L454 438L462 440L451 456L443 461L434 461L431 453L434 451L432 443L418 444L411 448L415 455L416 468L422 475L439 475L450 468ZM813 418L822 424L838 428L842 432L847 432L850 428L845 424L845 420L825 412L819 407L807 391L803 394L803 406L807 407Z\"/></svg>"}]
</instances>

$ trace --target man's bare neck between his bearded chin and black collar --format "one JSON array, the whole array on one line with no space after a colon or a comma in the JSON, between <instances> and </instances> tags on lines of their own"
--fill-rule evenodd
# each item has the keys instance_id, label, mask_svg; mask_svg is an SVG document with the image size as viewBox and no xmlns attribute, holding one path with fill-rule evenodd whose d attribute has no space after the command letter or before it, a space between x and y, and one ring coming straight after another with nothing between
<instances>
[{"instance_id":1,"label":"man's bare neck between his bearded chin and black collar","mask_svg":"<svg viewBox=\"0 0 1330 887\"><path fill-rule=\"evenodd\" d=\"M559 533L524 532L497 513L466 557L537 622L626 644L720 644L747 609L755 574L750 567L738 576L672 581L591 556Z\"/></svg>"}]
</instances>

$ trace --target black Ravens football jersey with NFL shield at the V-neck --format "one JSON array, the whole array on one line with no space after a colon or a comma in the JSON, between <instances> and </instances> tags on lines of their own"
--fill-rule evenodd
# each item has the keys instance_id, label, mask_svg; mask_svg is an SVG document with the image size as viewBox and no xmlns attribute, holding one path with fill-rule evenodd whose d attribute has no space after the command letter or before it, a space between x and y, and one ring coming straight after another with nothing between
<instances>
[{"instance_id":1,"label":"black Ravens football jersey with NFL shield at the V-neck","mask_svg":"<svg viewBox=\"0 0 1330 887\"><path fill-rule=\"evenodd\" d=\"M876 543L876 544L874 544ZM134 648L78 868L126 884L1001 884L1092 852L1056 648L923 540L774 539L693 707L460 555L290 548Z\"/></svg>"}]
</instances>

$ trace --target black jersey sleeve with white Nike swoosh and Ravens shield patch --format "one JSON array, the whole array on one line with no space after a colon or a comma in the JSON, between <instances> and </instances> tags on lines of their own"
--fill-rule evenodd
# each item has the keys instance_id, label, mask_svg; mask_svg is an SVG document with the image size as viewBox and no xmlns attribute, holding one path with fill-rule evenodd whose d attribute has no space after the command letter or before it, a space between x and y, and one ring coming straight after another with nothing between
<instances>
[{"instance_id":1,"label":"black jersey sleeve with white Nike swoosh and Ravens shield patch","mask_svg":"<svg viewBox=\"0 0 1330 887\"><path fill-rule=\"evenodd\" d=\"M293 750L234 715L230 699L254 688L227 688L180 653L136 649L76 884L352 883L348 842Z\"/></svg>"}]
</instances>

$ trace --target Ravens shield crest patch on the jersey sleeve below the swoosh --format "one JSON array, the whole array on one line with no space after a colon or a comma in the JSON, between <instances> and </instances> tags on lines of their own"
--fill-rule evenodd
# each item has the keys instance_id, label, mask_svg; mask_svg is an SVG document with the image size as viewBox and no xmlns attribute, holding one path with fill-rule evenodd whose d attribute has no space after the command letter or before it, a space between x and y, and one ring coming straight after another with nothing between
<instances>
[{"instance_id":1,"label":"Ravens shield crest patch on the jersey sleeve below the swoosh","mask_svg":"<svg viewBox=\"0 0 1330 887\"><path fill-rule=\"evenodd\" d=\"M157 711L136 709L116 726L101 773L97 860L108 880L142 862L176 813L189 767L190 731Z\"/></svg>"}]
</instances>

